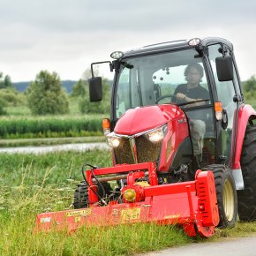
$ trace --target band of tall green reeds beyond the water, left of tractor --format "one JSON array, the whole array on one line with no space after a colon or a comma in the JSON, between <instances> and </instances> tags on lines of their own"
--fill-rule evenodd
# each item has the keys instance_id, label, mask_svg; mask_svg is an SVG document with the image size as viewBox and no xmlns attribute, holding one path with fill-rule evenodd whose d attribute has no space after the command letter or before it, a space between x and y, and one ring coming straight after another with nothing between
<instances>
[{"instance_id":1,"label":"band of tall green reeds beyond the water, left of tractor","mask_svg":"<svg viewBox=\"0 0 256 256\"><path fill-rule=\"evenodd\" d=\"M2 117L0 138L58 138L102 135L102 117L54 116L54 117Z\"/></svg>"}]
</instances>

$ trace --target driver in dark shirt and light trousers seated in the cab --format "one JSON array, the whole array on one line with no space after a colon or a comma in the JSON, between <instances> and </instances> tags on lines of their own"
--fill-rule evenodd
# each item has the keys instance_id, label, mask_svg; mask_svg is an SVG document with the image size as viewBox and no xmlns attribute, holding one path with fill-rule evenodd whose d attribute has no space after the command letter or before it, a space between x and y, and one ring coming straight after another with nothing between
<instances>
[{"instance_id":1,"label":"driver in dark shirt and light trousers seated in the cab","mask_svg":"<svg viewBox=\"0 0 256 256\"><path fill-rule=\"evenodd\" d=\"M200 81L204 76L203 67L200 64L189 64L184 70L184 77L187 81L186 84L179 85L174 94L176 95L176 103L190 103L186 107L194 107L204 105L205 102L196 102L200 100L209 99L209 93L207 89L200 86ZM203 139L206 132L206 124L201 119L200 110L186 111L186 115L189 118L189 126L192 138L193 154L197 162L202 160L202 148Z\"/></svg>"}]
</instances>

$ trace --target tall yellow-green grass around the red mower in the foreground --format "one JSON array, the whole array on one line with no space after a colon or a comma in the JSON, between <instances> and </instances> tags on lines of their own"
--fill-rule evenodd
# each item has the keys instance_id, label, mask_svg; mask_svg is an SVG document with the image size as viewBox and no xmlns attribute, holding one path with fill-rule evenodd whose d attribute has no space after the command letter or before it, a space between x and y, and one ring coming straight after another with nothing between
<instances>
[{"instance_id":1,"label":"tall yellow-green grass around the red mower in the foreground","mask_svg":"<svg viewBox=\"0 0 256 256\"><path fill-rule=\"evenodd\" d=\"M84 227L72 235L65 231L36 233L36 215L71 207L82 179L82 164L111 166L109 151L0 154L0 162L0 255L131 255L256 234L255 222L217 230L215 237L207 240L187 237L174 226L141 223Z\"/></svg>"}]
</instances>

